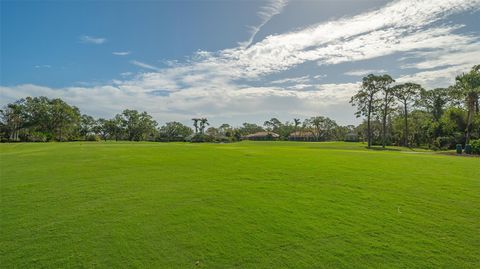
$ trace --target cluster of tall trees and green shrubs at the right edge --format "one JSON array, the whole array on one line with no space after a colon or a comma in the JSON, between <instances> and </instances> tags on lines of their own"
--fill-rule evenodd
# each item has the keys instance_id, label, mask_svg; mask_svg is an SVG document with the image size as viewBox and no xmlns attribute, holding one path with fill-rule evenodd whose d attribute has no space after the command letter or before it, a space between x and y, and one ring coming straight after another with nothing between
<instances>
[{"instance_id":1,"label":"cluster of tall trees and green shrubs at the right edge","mask_svg":"<svg viewBox=\"0 0 480 269\"><path fill-rule=\"evenodd\" d=\"M454 148L480 137L480 65L447 88L427 90L415 83L395 84L389 75L363 78L350 103L364 117L357 131L372 145Z\"/></svg>"}]
</instances>

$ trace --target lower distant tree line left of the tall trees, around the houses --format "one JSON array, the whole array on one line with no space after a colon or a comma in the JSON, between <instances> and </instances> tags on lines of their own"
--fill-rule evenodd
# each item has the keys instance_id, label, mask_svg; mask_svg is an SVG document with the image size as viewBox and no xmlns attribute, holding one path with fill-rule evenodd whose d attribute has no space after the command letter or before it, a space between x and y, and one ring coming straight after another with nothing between
<instances>
[{"instance_id":1,"label":"lower distant tree line left of the tall trees, around the houses","mask_svg":"<svg viewBox=\"0 0 480 269\"><path fill-rule=\"evenodd\" d=\"M27 97L7 104L0 110L0 139L3 142L47 142L47 141L193 141L233 142L242 137L270 131L288 140L293 132L305 131L313 135L314 141L343 140L353 132L353 125L340 126L334 120L316 116L281 122L271 118L263 125L243 123L239 127L224 123L210 126L207 118L193 118L192 127L180 122L158 123L147 112L126 109L111 119L81 114L80 110L65 101L45 96Z\"/></svg>"}]
</instances>

